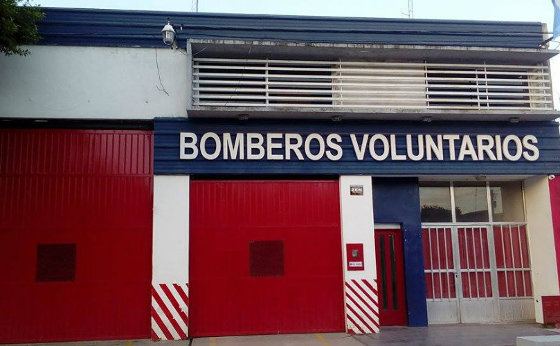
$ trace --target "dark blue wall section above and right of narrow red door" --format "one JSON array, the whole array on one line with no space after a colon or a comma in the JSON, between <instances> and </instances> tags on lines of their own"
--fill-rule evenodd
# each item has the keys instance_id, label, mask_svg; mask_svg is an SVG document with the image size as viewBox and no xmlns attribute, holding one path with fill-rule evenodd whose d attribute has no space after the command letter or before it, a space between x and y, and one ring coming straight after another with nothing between
<instances>
[{"instance_id":1,"label":"dark blue wall section above and right of narrow red door","mask_svg":"<svg viewBox=\"0 0 560 346\"><path fill-rule=\"evenodd\" d=\"M404 246L404 275L408 325L428 325L422 223L417 178L373 179L373 208L376 224L401 224Z\"/></svg>"}]
</instances>

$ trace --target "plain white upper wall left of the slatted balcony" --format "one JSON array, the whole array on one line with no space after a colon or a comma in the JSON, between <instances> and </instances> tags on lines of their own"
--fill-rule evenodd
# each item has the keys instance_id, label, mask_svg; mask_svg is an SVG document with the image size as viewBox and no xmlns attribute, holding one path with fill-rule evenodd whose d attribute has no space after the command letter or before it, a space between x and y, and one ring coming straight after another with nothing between
<instances>
[{"instance_id":1,"label":"plain white upper wall left of the slatted balcony","mask_svg":"<svg viewBox=\"0 0 560 346\"><path fill-rule=\"evenodd\" d=\"M0 56L0 117L152 119L186 116L190 56L184 51L69 46L25 48L31 55Z\"/></svg>"}]
</instances>

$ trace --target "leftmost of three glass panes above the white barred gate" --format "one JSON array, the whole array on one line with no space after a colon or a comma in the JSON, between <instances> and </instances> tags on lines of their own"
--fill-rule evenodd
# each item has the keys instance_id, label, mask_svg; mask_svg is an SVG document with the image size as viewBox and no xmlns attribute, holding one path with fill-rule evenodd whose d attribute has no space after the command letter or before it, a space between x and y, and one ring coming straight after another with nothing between
<instances>
[{"instance_id":1,"label":"leftmost of three glass panes above the white barred gate","mask_svg":"<svg viewBox=\"0 0 560 346\"><path fill-rule=\"evenodd\" d=\"M422 222L451 222L449 183L420 183Z\"/></svg>"}]
</instances>

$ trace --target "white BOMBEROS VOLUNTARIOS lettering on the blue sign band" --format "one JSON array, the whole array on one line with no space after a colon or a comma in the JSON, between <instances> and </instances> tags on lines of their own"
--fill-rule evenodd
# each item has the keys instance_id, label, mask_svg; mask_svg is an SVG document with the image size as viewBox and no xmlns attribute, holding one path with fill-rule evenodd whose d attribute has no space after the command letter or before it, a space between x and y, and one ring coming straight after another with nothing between
<instances>
[{"instance_id":1,"label":"white BOMBEROS VOLUNTARIOS lettering on the blue sign band","mask_svg":"<svg viewBox=\"0 0 560 346\"><path fill-rule=\"evenodd\" d=\"M339 161L351 155L357 161L526 161L539 159L533 135L479 134L349 134L343 147L340 134L257 134L181 132L179 158L206 160ZM404 143L399 147L397 142Z\"/></svg>"}]
</instances>

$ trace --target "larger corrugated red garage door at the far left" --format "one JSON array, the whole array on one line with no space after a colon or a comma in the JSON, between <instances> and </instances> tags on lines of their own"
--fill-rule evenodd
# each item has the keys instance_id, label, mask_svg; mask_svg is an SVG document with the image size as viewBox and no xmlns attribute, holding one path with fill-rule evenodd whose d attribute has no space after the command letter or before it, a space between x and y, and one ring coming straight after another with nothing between
<instances>
[{"instance_id":1,"label":"larger corrugated red garage door at the far left","mask_svg":"<svg viewBox=\"0 0 560 346\"><path fill-rule=\"evenodd\" d=\"M152 133L0 130L0 343L150 337Z\"/></svg>"}]
</instances>

